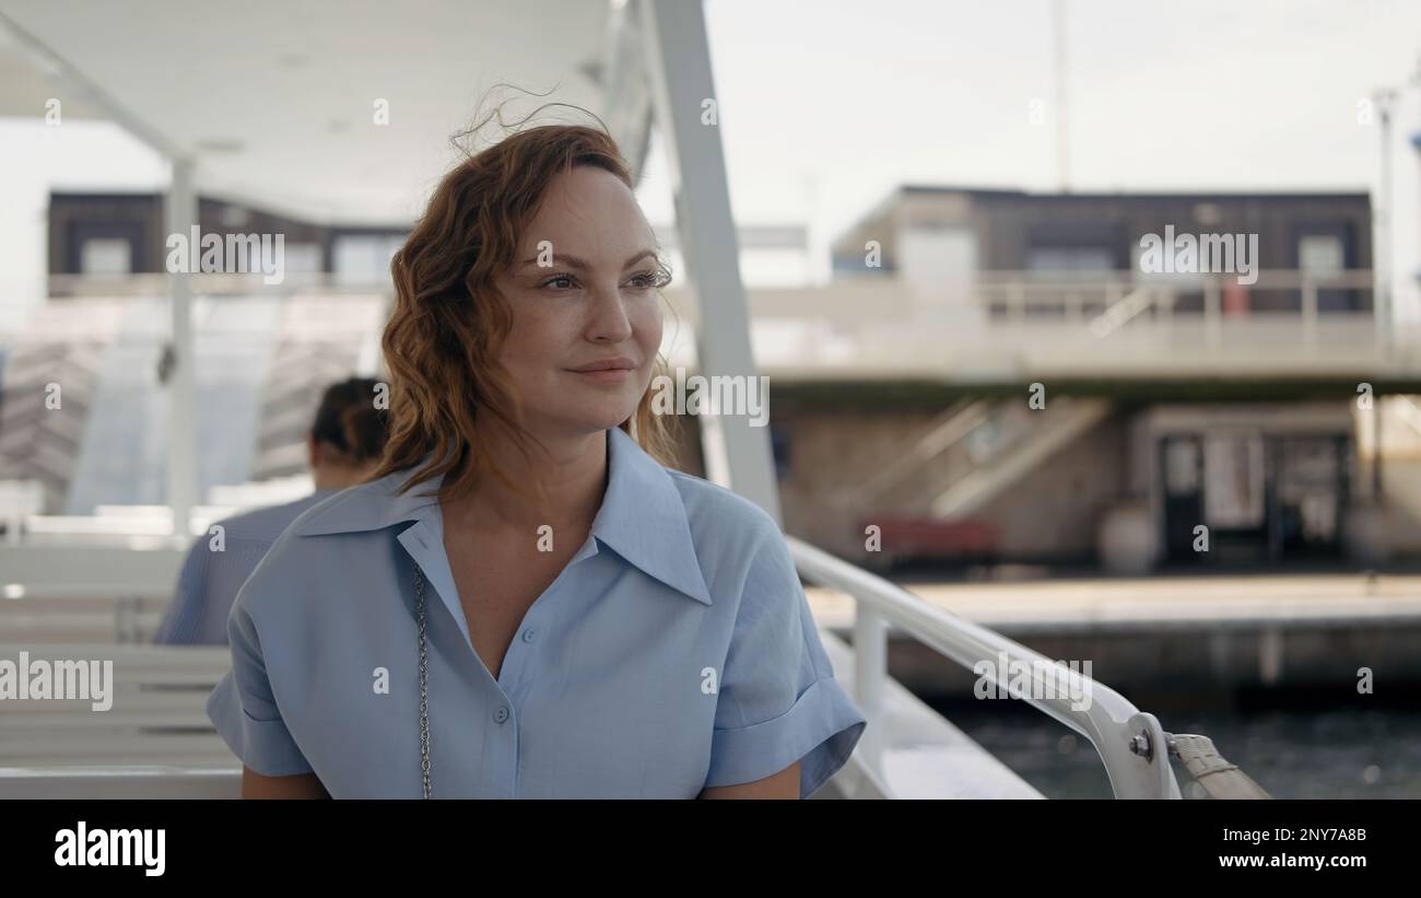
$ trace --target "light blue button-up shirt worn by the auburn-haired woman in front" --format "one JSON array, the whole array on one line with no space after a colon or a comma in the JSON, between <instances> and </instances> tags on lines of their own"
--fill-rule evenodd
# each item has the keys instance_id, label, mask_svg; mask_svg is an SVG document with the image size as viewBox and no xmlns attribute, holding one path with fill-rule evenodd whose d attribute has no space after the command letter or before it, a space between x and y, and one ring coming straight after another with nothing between
<instances>
[{"instance_id":1,"label":"light blue button-up shirt worn by the auburn-haired woman in front","mask_svg":"<svg viewBox=\"0 0 1421 898\"><path fill-rule=\"evenodd\" d=\"M867 720L834 679L759 506L608 431L587 541L527 610L497 679L475 652L432 493L396 472L301 514L237 595L207 715L266 776L333 797L422 793L415 568L435 797L693 799L800 762L800 797ZM534 539L530 534L530 539ZM554 534L556 539L556 534Z\"/></svg>"}]
</instances>

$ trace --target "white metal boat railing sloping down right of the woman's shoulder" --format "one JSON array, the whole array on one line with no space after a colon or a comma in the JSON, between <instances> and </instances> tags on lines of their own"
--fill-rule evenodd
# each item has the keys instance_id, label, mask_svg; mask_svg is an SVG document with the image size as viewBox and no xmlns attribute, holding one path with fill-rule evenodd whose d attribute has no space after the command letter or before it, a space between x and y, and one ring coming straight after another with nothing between
<instances>
[{"instance_id":1,"label":"white metal boat railing sloping down right of the woman's shoulder","mask_svg":"<svg viewBox=\"0 0 1421 898\"><path fill-rule=\"evenodd\" d=\"M828 553L787 537L800 574L818 585L847 593L854 600L854 699L864 716L872 720L884 706L888 682L888 625L901 627L915 639L956 664L976 669L986 664L986 675L998 669L999 656L1009 665L1032 671L1027 695L1012 692L1039 710L1064 723L1090 740L1100 753L1117 799L1179 799L1179 784L1169 766L1164 729L1154 715L1141 712L1128 699L1088 676L1032 651L1019 642L936 608L912 593L836 558ZM1044 665L1052 665L1053 682L1044 682ZM1057 682L1067 682L1060 695ZM1002 689L1010 683L998 683ZM1086 708L1073 708L1070 695L1088 695ZM863 746L868 763L878 764L881 746L875 729L864 730ZM880 769L881 770L881 769Z\"/></svg>"}]
</instances>

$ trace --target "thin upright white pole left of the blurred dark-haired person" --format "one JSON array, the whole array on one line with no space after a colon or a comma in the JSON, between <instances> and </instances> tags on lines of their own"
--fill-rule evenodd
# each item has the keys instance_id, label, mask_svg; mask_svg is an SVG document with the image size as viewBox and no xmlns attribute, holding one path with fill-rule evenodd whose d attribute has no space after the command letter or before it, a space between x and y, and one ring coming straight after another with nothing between
<instances>
[{"instance_id":1,"label":"thin upright white pole left of the blurred dark-haired person","mask_svg":"<svg viewBox=\"0 0 1421 898\"><path fill-rule=\"evenodd\" d=\"M193 190L192 159L172 161L172 185L163 203L163 233L183 234L198 224L198 195ZM165 237L166 240L166 237ZM186 266L185 266L186 267ZM186 541L192 507L198 503L198 381L193 369L192 274L168 273L172 304L172 358L168 374L168 507L173 514L173 536Z\"/></svg>"}]
</instances>

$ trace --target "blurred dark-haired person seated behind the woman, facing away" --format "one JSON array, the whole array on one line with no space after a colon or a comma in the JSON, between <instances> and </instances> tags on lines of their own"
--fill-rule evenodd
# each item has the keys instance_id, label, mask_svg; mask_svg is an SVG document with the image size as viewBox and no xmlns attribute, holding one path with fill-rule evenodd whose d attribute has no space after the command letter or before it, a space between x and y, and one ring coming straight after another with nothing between
<instances>
[{"instance_id":1,"label":"blurred dark-haired person seated behind the woman, facing away","mask_svg":"<svg viewBox=\"0 0 1421 898\"><path fill-rule=\"evenodd\" d=\"M388 412L375 408L375 384L369 378L350 378L325 389L315 422L306 436L314 493L220 521L220 551L207 537L193 543L178 578L178 593L153 642L227 644L227 614L237 590L276 537L301 512L365 482L379 465L388 436Z\"/></svg>"}]
</instances>

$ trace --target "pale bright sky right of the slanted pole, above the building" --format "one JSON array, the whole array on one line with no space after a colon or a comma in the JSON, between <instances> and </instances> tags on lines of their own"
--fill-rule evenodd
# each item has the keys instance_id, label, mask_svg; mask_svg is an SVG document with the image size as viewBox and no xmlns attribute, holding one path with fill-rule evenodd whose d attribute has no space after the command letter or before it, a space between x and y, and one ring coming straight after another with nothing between
<instances>
[{"instance_id":1,"label":"pale bright sky right of the slanted pole, above the building","mask_svg":"<svg viewBox=\"0 0 1421 898\"><path fill-rule=\"evenodd\" d=\"M1417 0L1063 6L1077 190L1367 189L1358 102L1421 61ZM708 0L706 21L743 219L845 226L904 182L1060 183L1050 0Z\"/></svg>"}]
</instances>

